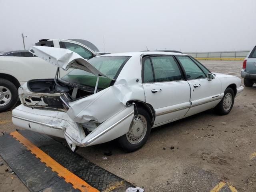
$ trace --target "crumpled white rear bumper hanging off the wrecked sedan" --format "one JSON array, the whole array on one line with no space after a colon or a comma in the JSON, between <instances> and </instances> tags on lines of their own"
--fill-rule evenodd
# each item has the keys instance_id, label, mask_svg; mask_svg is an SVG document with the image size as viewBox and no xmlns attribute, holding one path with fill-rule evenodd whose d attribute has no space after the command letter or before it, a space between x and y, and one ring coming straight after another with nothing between
<instances>
[{"instance_id":1,"label":"crumpled white rear bumper hanging off the wrecked sedan","mask_svg":"<svg viewBox=\"0 0 256 192\"><path fill-rule=\"evenodd\" d=\"M66 112L52 109L30 108L24 105L12 111L14 125L61 138L70 146L90 146L116 139L129 131L134 119L134 107L124 109L102 122L87 136L82 125L74 122Z\"/></svg>"}]
</instances>

